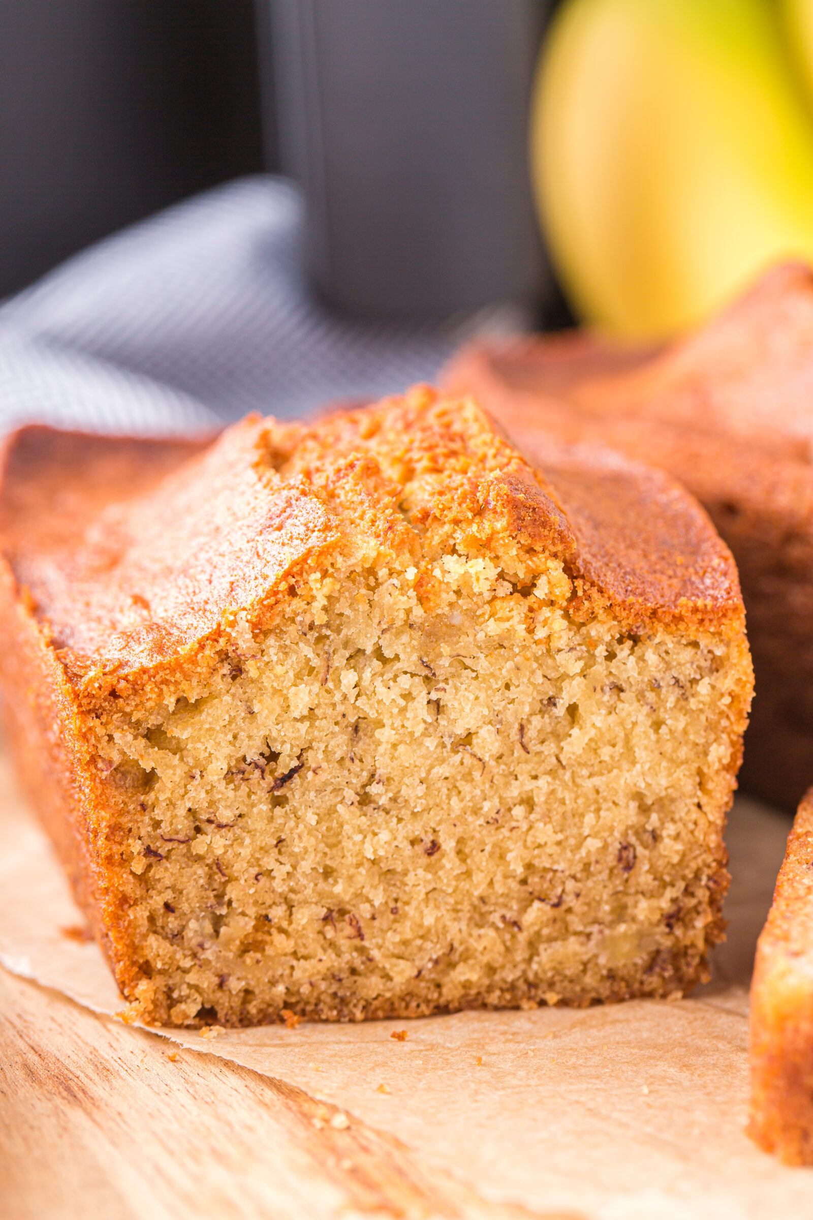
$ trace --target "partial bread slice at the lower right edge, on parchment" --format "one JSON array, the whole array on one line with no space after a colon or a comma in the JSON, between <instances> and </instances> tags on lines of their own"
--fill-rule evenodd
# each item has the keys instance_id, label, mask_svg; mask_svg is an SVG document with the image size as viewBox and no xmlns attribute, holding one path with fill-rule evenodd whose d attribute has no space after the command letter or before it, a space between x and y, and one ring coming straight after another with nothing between
<instances>
[{"instance_id":1,"label":"partial bread slice at the lower right edge, on parchment","mask_svg":"<svg viewBox=\"0 0 813 1220\"><path fill-rule=\"evenodd\" d=\"M748 1133L787 1165L813 1165L813 788L757 944Z\"/></svg>"}]
</instances>

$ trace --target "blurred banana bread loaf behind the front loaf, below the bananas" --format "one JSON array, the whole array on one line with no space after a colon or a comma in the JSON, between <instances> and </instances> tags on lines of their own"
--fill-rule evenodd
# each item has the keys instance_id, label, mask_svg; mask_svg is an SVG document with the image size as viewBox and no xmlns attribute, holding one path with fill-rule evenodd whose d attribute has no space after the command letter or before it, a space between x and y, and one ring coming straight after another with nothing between
<instances>
[{"instance_id":1,"label":"blurred banana bread loaf behind the front loaf, below the bananas","mask_svg":"<svg viewBox=\"0 0 813 1220\"><path fill-rule=\"evenodd\" d=\"M769 272L661 350L580 333L477 343L446 371L518 444L603 443L680 479L736 560L757 698L745 788L795 810L813 776L813 273Z\"/></svg>"}]
</instances>

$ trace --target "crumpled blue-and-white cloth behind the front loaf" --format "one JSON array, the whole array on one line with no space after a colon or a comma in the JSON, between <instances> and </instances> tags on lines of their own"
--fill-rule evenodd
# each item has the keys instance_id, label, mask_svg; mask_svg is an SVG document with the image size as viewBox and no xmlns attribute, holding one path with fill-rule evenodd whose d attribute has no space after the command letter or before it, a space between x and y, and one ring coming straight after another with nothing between
<instances>
[{"instance_id":1,"label":"crumpled blue-and-white cloth behind the front loaf","mask_svg":"<svg viewBox=\"0 0 813 1220\"><path fill-rule=\"evenodd\" d=\"M300 254L302 204L240 179L100 242L0 306L0 429L102 432L282 418L431 381L474 333L522 328L495 305L442 325L361 322L322 307Z\"/></svg>"}]
</instances>

